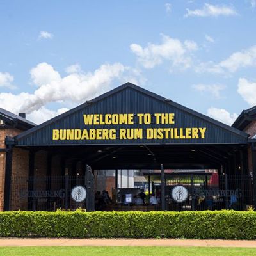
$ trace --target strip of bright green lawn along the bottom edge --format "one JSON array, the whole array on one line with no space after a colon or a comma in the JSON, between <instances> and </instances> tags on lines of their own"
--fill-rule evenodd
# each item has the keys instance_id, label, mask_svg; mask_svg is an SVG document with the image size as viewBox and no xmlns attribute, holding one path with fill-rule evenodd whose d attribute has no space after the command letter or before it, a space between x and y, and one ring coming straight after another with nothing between
<instances>
[{"instance_id":1,"label":"strip of bright green lawn along the bottom edge","mask_svg":"<svg viewBox=\"0 0 256 256\"><path fill-rule=\"evenodd\" d=\"M254 248L214 247L0 247L2 256L247 256L256 255Z\"/></svg>"}]
</instances>

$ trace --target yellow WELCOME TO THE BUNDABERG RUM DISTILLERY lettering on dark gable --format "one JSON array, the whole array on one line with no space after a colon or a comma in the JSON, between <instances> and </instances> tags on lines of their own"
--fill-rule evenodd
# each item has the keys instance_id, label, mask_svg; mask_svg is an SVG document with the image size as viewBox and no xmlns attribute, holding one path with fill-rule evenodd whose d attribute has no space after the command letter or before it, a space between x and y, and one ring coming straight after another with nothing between
<instances>
[{"instance_id":1,"label":"yellow WELCOME TO THE BUNDABERG RUM DISTILLERY lettering on dark gable","mask_svg":"<svg viewBox=\"0 0 256 256\"><path fill-rule=\"evenodd\" d=\"M175 127L175 113L83 114L83 122L84 129L52 129L52 140L196 140L204 139L207 130L206 127ZM123 127L117 128L120 126Z\"/></svg>"}]
</instances>

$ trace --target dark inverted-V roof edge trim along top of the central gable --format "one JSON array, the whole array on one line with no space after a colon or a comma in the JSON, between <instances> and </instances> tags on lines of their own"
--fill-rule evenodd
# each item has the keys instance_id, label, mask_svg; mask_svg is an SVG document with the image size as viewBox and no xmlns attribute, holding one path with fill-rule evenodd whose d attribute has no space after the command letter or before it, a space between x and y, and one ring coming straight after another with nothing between
<instances>
[{"instance_id":1,"label":"dark inverted-V roof edge trim along top of the central gable","mask_svg":"<svg viewBox=\"0 0 256 256\"><path fill-rule=\"evenodd\" d=\"M69 111L61 114L61 115L58 115L50 120L47 120L46 122L40 124L40 125L37 125L36 127L33 127L31 129L29 129L28 131L25 131L25 132L22 132L21 134L18 134L17 136L15 136L15 140L20 140L26 136L28 136L29 134L32 134L33 132L36 132L44 127L46 127L47 125L50 125L58 120L61 120L62 118L65 118L66 116L70 116L72 115L73 113L76 113L77 111L83 109L83 108L86 108L88 106L91 106L92 104L95 104L96 102L99 102L100 100L103 100L103 99L106 99L107 97L115 94L115 93L118 93L118 92L121 92L122 90L125 90L127 88L131 88L137 92L140 92L140 93L143 93L144 95L147 95L148 97L152 97L156 100L159 100L161 102L164 102L165 104L169 104L170 106L173 106L175 108L178 108L178 109L181 109L182 111L186 112L186 113L189 113L190 115L194 115L198 118L201 118L202 120L205 120L211 124L214 124L214 125L217 125L218 127L221 127L222 129L225 129L226 131L228 132L232 132L233 134L236 134L238 136L241 136L243 138L248 138L248 134L246 134L245 132L242 132L242 131L239 131L238 129L234 128L234 127L230 127L226 124L223 124L217 120L214 120L212 118L210 118L209 116L205 116L201 113L198 113L192 109L189 109L189 108L186 108L185 106L182 106L176 102L173 102L172 100L170 99L166 99L165 97L162 97L160 95L157 95L156 93L153 93L153 92L150 92L144 88L141 88L140 86L137 86L135 84L132 84L132 83L125 83L125 84L122 84L118 87L116 87L115 89L113 90L110 90L109 92L106 92L98 97L95 97L94 99L92 100L88 100L86 102L84 102L83 104L77 106L76 108L73 108L73 109L70 109Z\"/></svg>"}]
</instances>

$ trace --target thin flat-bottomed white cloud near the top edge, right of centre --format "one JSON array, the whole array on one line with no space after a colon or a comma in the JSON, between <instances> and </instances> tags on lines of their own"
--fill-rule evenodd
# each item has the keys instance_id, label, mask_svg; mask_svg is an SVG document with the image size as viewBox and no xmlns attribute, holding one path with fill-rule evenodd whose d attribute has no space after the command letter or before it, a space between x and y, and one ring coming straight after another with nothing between
<instances>
[{"instance_id":1,"label":"thin flat-bottomed white cloud near the top edge, right of centre","mask_svg":"<svg viewBox=\"0 0 256 256\"><path fill-rule=\"evenodd\" d=\"M218 17L222 16L234 16L237 15L236 10L230 6L218 6L205 3L201 9L189 10L186 9L187 13L184 17L198 16L198 17Z\"/></svg>"}]
</instances>

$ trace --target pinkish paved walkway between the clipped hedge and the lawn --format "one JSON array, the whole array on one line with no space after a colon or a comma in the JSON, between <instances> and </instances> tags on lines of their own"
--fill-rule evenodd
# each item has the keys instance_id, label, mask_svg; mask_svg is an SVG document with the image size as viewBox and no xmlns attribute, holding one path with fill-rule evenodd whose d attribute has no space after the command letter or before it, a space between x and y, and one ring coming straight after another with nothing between
<instances>
[{"instance_id":1,"label":"pinkish paved walkway between the clipped hedge and the lawn","mask_svg":"<svg viewBox=\"0 0 256 256\"><path fill-rule=\"evenodd\" d=\"M20 239L0 238L0 246L202 246L250 247L256 241L192 239Z\"/></svg>"}]
</instances>

